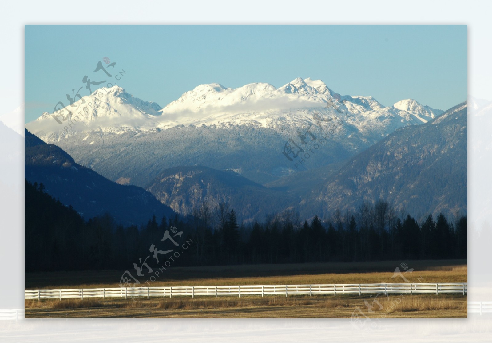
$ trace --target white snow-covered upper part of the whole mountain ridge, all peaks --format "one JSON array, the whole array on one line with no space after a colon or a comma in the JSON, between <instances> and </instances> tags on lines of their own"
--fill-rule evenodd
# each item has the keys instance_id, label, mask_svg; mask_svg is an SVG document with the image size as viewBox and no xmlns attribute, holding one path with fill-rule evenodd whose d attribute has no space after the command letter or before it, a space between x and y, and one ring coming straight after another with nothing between
<instances>
[{"instance_id":1,"label":"white snow-covered upper part of the whole mountain ridge, all peaks","mask_svg":"<svg viewBox=\"0 0 492 343\"><path fill-rule=\"evenodd\" d=\"M442 111L412 99L385 107L371 96L340 96L321 80L297 78L279 88L267 83L239 88L200 85L164 108L133 97L119 86L103 87L60 109L58 115L42 114L26 127L48 142L57 142L80 131L148 132L180 125L250 125L282 131L313 123L315 113L335 114L342 120L350 117L346 120L349 132L380 138L401 126L427 122ZM67 126L70 120L83 125Z\"/></svg>"}]
</instances>

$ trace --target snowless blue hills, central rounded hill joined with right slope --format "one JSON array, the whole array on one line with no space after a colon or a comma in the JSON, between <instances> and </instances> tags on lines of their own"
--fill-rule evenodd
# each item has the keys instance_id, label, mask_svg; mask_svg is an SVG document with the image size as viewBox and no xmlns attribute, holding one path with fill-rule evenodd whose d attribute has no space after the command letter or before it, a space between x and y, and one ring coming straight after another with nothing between
<instances>
[{"instance_id":1,"label":"snowless blue hills, central rounded hill joined with right slope","mask_svg":"<svg viewBox=\"0 0 492 343\"><path fill-rule=\"evenodd\" d=\"M303 219L329 219L363 200L387 200L417 217L467 212L467 106L422 125L401 128L348 162L281 177L263 187L233 171L204 166L162 171L147 188L181 214L207 200L227 200L240 220L299 210Z\"/></svg>"}]
</instances>

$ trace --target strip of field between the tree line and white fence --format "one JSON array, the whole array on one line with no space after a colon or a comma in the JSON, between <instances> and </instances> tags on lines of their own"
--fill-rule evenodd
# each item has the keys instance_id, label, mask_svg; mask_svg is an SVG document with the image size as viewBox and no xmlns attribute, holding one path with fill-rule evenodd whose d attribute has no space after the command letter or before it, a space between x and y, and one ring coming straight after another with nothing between
<instances>
[{"instance_id":1,"label":"strip of field between the tree line and white fence","mask_svg":"<svg viewBox=\"0 0 492 343\"><path fill-rule=\"evenodd\" d=\"M403 283L392 278L399 261L171 267L141 279L141 286L238 286ZM406 261L409 282L467 282L466 260ZM401 268L400 268L401 270ZM123 271L26 273L26 289L120 287ZM145 280L144 280L145 279ZM149 284L145 283L146 281Z\"/></svg>"}]
</instances>

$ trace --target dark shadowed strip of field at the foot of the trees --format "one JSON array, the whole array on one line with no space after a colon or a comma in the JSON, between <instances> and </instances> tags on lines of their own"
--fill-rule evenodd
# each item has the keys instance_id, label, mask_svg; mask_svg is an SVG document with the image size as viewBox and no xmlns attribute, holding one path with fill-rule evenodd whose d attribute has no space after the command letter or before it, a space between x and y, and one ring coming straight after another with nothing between
<instances>
[{"instance_id":1,"label":"dark shadowed strip of field at the foot of the trees","mask_svg":"<svg viewBox=\"0 0 492 343\"><path fill-rule=\"evenodd\" d=\"M210 285L215 279L252 279L265 277L283 277L294 275L319 274L350 274L375 273L395 271L401 262L405 262L414 272L419 271L458 271L460 268L466 274L466 259L459 260L411 260L411 261L378 261L378 262L324 262L299 264L248 264L228 266L200 266L200 267L170 267L166 268L162 281L193 281L209 279ZM97 270L97 271L69 271L26 273L25 288L57 288L63 287L119 287L120 278L124 271ZM145 280L144 280L145 282ZM376 281L379 282L379 281ZM429 281L424 281L429 282ZM444 281L439 281L444 282ZM450 281L451 282L451 281ZM360 281L359 281L360 283ZM183 283L181 283L183 284ZM191 283L190 283L191 284ZM247 284L247 283L246 283ZM162 286L154 283L152 286ZM174 286L174 285L171 285ZM195 285L198 286L198 285Z\"/></svg>"}]
</instances>

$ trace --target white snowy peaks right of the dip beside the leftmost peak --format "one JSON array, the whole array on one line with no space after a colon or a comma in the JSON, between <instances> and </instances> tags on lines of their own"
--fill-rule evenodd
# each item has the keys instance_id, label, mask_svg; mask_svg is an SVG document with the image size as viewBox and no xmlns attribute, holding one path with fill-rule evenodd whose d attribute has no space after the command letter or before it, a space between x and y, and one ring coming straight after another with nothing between
<instances>
[{"instance_id":1,"label":"white snowy peaks right of the dip beside the leftmost peak","mask_svg":"<svg viewBox=\"0 0 492 343\"><path fill-rule=\"evenodd\" d=\"M315 111L323 111L327 106L336 106L341 111L339 114L354 114L351 124L359 131L372 124L388 127L393 132L400 126L427 122L443 112L412 99L385 107L371 96L340 96L321 80L297 78L278 89L265 83L239 88L226 88L220 84L197 86L162 109L158 126L249 123L273 128L282 123L295 124L310 119ZM389 118L398 123L391 125ZM372 123L368 125L369 122ZM383 131L387 131L384 128Z\"/></svg>"}]
</instances>

